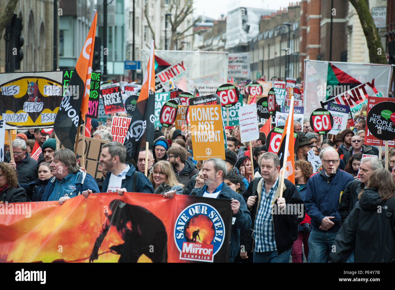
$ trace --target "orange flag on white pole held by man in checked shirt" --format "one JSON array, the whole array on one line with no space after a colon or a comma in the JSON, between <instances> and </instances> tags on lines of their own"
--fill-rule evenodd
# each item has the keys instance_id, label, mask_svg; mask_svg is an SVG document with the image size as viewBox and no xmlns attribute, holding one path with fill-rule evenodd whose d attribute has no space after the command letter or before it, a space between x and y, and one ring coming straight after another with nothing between
<instances>
[{"instance_id":1,"label":"orange flag on white pole held by man in checked shirt","mask_svg":"<svg viewBox=\"0 0 395 290\"><path fill-rule=\"evenodd\" d=\"M294 138L293 138L293 96L291 97L291 104L290 104L290 112L288 114L287 121L285 123L284 132L282 132L280 144L282 141L285 140L285 152L284 159L286 160L285 166L280 170L280 174L282 171L284 172L284 179L288 179L292 183L295 184L295 157L294 157ZM281 148L281 145L280 145ZM280 154L280 152L279 152Z\"/></svg>"}]
</instances>

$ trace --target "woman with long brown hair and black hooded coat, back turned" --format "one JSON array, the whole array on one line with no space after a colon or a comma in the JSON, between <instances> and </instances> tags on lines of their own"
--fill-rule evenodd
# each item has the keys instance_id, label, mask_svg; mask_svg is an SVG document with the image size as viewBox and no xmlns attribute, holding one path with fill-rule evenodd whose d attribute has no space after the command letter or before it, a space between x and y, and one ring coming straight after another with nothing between
<instances>
[{"instance_id":1,"label":"woman with long brown hair and black hooded coat, back turned","mask_svg":"<svg viewBox=\"0 0 395 290\"><path fill-rule=\"evenodd\" d=\"M336 236L336 251L331 251L329 262L346 262L353 250L355 263L395 261L394 190L388 170L372 172L367 189L359 194L359 202Z\"/></svg>"}]
</instances>

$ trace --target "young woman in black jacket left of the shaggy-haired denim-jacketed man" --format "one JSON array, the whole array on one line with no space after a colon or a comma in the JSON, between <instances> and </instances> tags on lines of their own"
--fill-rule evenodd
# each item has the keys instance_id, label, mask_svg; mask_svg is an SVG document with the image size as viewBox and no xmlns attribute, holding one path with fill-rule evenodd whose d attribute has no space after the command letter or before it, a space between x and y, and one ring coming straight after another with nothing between
<instances>
[{"instance_id":1,"label":"young woman in black jacket left of the shaggy-haired denim-jacketed man","mask_svg":"<svg viewBox=\"0 0 395 290\"><path fill-rule=\"evenodd\" d=\"M50 178L53 177L51 165L47 162L42 162L38 166L38 179L27 183L21 183L27 194L28 201L41 201L44 195L45 187Z\"/></svg>"}]
</instances>

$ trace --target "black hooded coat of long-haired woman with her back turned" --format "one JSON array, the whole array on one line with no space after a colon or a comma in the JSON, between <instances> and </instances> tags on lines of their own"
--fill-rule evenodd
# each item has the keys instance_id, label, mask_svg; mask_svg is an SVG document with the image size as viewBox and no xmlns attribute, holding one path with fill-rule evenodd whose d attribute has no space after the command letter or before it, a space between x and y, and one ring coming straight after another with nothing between
<instances>
[{"instance_id":1,"label":"black hooded coat of long-haired woman with her back turned","mask_svg":"<svg viewBox=\"0 0 395 290\"><path fill-rule=\"evenodd\" d=\"M376 189L366 189L336 235L329 262L346 262L354 249L355 263L395 261L394 213L387 217Z\"/></svg>"}]
</instances>

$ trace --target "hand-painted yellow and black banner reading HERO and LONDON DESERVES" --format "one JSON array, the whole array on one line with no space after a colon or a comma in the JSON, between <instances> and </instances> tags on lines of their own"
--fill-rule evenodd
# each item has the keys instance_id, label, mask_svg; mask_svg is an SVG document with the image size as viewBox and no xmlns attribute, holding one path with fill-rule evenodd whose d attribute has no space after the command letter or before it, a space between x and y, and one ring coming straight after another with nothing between
<instances>
[{"instance_id":1,"label":"hand-painted yellow and black banner reading HERO and LONDON DESERVES","mask_svg":"<svg viewBox=\"0 0 395 290\"><path fill-rule=\"evenodd\" d=\"M62 71L1 73L0 111L6 130L53 127L62 101L62 77Z\"/></svg>"}]
</instances>

